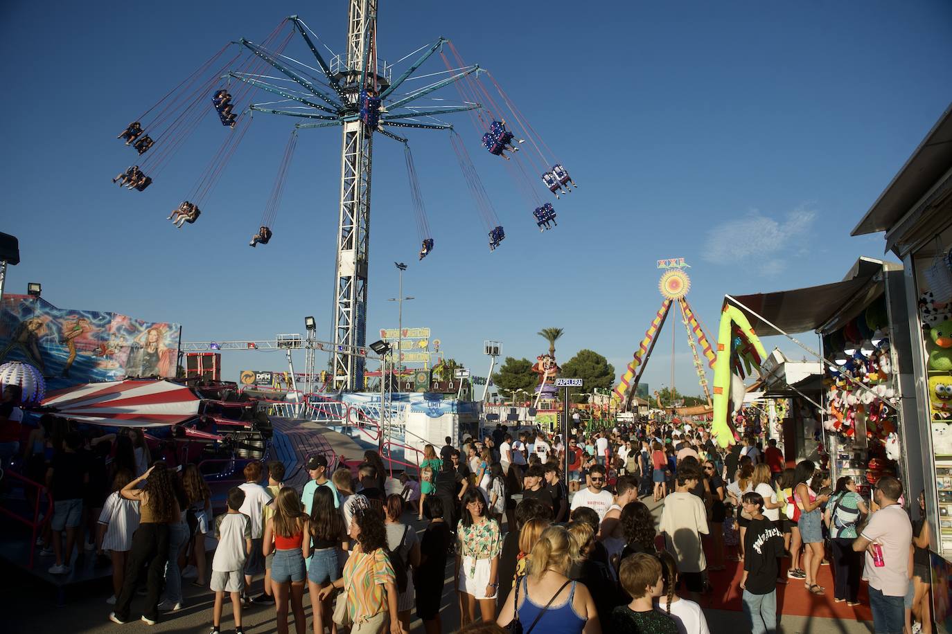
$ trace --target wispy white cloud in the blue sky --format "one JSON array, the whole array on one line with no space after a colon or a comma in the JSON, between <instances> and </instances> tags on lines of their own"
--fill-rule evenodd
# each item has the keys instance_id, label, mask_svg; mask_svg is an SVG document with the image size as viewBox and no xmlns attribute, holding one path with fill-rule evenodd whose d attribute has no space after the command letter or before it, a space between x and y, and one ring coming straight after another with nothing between
<instances>
[{"instance_id":1,"label":"wispy white cloud in the blue sky","mask_svg":"<svg viewBox=\"0 0 952 634\"><path fill-rule=\"evenodd\" d=\"M715 264L756 260L761 275L773 276L799 255L810 235L816 212L799 207L781 220L753 209L743 218L725 221L711 229L704 242L704 259Z\"/></svg>"}]
</instances>

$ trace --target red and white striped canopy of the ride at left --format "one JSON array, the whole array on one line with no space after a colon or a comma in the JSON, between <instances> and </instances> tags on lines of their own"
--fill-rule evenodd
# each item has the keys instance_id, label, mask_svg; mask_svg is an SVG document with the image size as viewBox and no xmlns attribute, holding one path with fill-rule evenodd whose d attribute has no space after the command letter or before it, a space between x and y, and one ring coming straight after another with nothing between
<instances>
[{"instance_id":1,"label":"red and white striped canopy of the ride at left","mask_svg":"<svg viewBox=\"0 0 952 634\"><path fill-rule=\"evenodd\" d=\"M162 380L84 383L47 394L43 405L94 425L169 427L192 418L201 402L187 387Z\"/></svg>"}]
</instances>

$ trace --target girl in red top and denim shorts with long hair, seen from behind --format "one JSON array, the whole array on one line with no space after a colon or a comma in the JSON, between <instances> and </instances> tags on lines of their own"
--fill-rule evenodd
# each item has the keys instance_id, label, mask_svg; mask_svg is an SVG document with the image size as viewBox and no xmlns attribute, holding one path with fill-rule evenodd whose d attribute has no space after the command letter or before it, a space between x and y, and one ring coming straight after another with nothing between
<instances>
[{"instance_id":1,"label":"girl in red top and denim shorts with long hair, seen from behind","mask_svg":"<svg viewBox=\"0 0 952 634\"><path fill-rule=\"evenodd\" d=\"M304 543L304 536L305 533L309 534L307 515L301 508L297 491L291 487L278 491L273 507L274 515L268 518L268 524L265 525L264 552L266 557L274 552L271 591L277 610L278 632L288 634L289 596L290 609L294 612L294 629L297 634L305 634L304 580L307 570L304 554L309 544Z\"/></svg>"}]
</instances>

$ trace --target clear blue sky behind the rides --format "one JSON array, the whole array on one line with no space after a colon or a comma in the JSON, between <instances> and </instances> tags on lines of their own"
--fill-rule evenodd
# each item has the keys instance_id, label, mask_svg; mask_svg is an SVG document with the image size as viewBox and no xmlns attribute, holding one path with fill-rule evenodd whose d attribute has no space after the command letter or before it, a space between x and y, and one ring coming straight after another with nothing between
<instances>
[{"instance_id":1,"label":"clear blue sky behind the rides","mask_svg":"<svg viewBox=\"0 0 952 634\"><path fill-rule=\"evenodd\" d=\"M144 193L109 179L133 158L115 135L226 42L260 41L298 13L342 52L347 3L44 7L0 7L8 87L0 230L19 238L23 260L10 269L8 292L40 281L60 307L177 321L186 340L297 332L306 315L327 338L338 129L302 131L265 248L249 249L248 238L294 120L255 117L186 229L166 216L220 144L221 126L209 119ZM552 201L559 226L540 234L503 162L480 149L466 114L451 115L506 227L489 253L446 134L411 131L436 240L418 264L402 148L379 139L368 332L396 327L387 298L397 295L392 262L403 260L405 293L416 298L405 327L429 326L474 374L486 373L484 339L532 358L545 350L536 332L547 326L565 328L560 360L591 348L621 370L661 302L656 259L691 264L688 297L710 329L724 293L824 283L858 256L882 256L882 236L851 239L849 230L952 101L952 5L594 7L602 10L561 0L382 0L381 58L450 38L467 63L492 71L579 189ZM421 72L442 69L436 57ZM676 381L695 394L677 325ZM669 350L665 333L645 373L653 388L670 380ZM283 362L230 355L226 375Z\"/></svg>"}]
</instances>

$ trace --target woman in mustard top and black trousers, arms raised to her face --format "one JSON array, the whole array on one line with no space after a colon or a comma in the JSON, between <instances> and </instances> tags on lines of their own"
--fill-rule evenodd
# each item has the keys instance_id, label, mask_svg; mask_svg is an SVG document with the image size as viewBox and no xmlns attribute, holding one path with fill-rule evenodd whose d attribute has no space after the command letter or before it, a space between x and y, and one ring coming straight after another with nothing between
<instances>
[{"instance_id":1,"label":"woman in mustard top and black trousers, arms raised to her face","mask_svg":"<svg viewBox=\"0 0 952 634\"><path fill-rule=\"evenodd\" d=\"M109 614L113 623L129 622L129 605L144 567L149 567L149 572L142 620L149 625L158 621L159 592L169 559L169 524L178 521L182 514L172 481L174 476L175 472L169 470L166 463L156 462L119 491L125 499L139 503L140 518L139 528L132 535L127 575L116 597L115 610ZM143 482L145 485L139 489Z\"/></svg>"}]
</instances>

